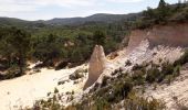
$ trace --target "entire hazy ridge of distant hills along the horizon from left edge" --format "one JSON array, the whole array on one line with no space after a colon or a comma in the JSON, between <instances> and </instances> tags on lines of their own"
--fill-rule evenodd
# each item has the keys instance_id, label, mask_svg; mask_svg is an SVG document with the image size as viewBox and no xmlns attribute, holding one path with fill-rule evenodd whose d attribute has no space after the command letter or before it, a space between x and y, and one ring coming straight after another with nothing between
<instances>
[{"instance_id":1,"label":"entire hazy ridge of distant hills along the horizon from left edge","mask_svg":"<svg viewBox=\"0 0 188 110\"><path fill-rule=\"evenodd\" d=\"M14 18L0 18L1 26L23 26L23 28L41 28L45 25L81 25L90 22L95 23L113 23L118 21L134 21L139 13L130 14L93 14L86 18L55 18L52 20L25 21Z\"/></svg>"}]
</instances>

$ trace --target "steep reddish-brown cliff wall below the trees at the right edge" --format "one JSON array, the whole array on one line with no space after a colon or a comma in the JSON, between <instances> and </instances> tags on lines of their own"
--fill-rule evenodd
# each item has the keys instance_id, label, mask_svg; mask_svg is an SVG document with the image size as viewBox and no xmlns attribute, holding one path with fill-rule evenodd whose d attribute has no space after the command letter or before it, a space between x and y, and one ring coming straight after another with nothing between
<instances>
[{"instance_id":1,"label":"steep reddish-brown cliff wall below the trees at the right edge","mask_svg":"<svg viewBox=\"0 0 188 110\"><path fill-rule=\"evenodd\" d=\"M128 52L133 51L144 40L149 41L149 46L188 46L188 24L156 25L153 29L135 30L132 32L128 43Z\"/></svg>"}]
</instances>

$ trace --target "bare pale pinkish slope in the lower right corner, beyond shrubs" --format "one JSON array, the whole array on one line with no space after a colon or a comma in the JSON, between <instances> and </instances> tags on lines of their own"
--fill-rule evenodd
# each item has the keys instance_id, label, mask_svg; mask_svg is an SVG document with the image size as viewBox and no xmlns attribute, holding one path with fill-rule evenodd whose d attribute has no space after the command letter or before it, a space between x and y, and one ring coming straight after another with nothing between
<instances>
[{"instance_id":1,"label":"bare pale pinkish slope in the lower right corner, beyond shrubs","mask_svg":"<svg viewBox=\"0 0 188 110\"><path fill-rule=\"evenodd\" d=\"M182 70L170 85L157 86L156 90L146 89L145 95L163 100L168 110L179 110L177 103L188 107L188 70Z\"/></svg>"}]
</instances>

